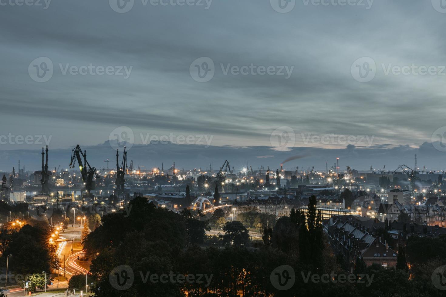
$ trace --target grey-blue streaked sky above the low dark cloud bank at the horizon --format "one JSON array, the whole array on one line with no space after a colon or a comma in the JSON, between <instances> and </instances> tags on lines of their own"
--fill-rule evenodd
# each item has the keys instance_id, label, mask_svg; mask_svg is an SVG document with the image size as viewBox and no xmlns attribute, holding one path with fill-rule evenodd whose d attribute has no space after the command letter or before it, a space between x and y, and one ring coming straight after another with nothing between
<instances>
[{"instance_id":1,"label":"grey-blue streaked sky above the low dark cloud bank at the horizon","mask_svg":"<svg viewBox=\"0 0 446 297\"><path fill-rule=\"evenodd\" d=\"M0 0L0 151L446 143L441 0L117 1Z\"/></svg>"}]
</instances>

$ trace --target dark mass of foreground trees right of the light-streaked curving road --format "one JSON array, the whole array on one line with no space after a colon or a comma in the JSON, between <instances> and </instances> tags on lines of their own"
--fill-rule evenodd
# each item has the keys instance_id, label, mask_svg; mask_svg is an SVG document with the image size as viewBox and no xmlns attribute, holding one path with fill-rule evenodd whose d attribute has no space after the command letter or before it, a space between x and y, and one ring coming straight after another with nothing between
<instances>
[{"instance_id":1,"label":"dark mass of foreground trees right of the light-streaked curving road","mask_svg":"<svg viewBox=\"0 0 446 297\"><path fill-rule=\"evenodd\" d=\"M351 275L356 281L342 281L349 273L342 269L342 256L335 256L328 246L315 202L310 197L307 216L293 210L273 228L264 226L260 246L251 243L244 224L235 221L224 225L221 245L209 247L204 244L205 231L212 219L189 210L169 212L138 197L130 202L133 207L127 217L104 216L103 224L87 236L85 250L93 258L92 288L97 297L444 296L430 280L434 269L445 263L443 237L409 240L398 268L367 267L358 258ZM430 256L421 252L424 249ZM274 281L289 276L276 272L282 265L294 272L287 290ZM324 275L330 275L326 278L330 281L322 282Z\"/></svg>"}]
</instances>

